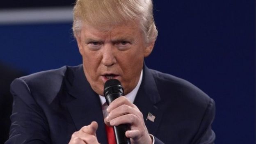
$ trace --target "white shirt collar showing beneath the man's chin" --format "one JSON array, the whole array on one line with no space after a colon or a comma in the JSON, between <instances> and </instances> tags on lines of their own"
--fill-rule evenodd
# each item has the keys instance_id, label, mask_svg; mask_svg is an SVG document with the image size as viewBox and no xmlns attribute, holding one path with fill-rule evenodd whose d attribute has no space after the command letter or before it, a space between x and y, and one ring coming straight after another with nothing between
<instances>
[{"instance_id":1,"label":"white shirt collar showing beneath the man's chin","mask_svg":"<svg viewBox=\"0 0 256 144\"><path fill-rule=\"evenodd\" d=\"M139 82L137 83L136 87L129 93L129 94L126 94L125 97L130 101L130 102L134 102L135 100L135 97L137 95L137 92L139 90L139 86L142 82L142 76L143 76L143 70L141 71L140 73L140 76L139 76ZM106 102L106 99L104 96L101 96L99 95L100 97L100 100L101 100L101 105L103 105L105 102Z\"/></svg>"}]
</instances>

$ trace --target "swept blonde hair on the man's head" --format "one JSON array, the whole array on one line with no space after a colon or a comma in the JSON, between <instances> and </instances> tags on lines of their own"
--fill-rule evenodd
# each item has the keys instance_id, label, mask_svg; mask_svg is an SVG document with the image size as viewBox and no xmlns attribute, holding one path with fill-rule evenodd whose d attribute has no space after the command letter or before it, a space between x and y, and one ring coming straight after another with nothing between
<instances>
[{"instance_id":1,"label":"swept blonde hair on the man's head","mask_svg":"<svg viewBox=\"0 0 256 144\"><path fill-rule=\"evenodd\" d=\"M139 22L145 42L156 40L152 0L76 0L73 9L73 34L80 36L83 23L108 27Z\"/></svg>"}]
</instances>

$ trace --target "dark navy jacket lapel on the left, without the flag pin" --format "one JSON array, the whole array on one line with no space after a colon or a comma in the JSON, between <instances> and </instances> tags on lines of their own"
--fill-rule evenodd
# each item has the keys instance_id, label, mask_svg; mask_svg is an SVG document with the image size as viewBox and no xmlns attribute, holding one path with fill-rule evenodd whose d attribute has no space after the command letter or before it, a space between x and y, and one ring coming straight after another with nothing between
<instances>
[{"instance_id":1,"label":"dark navy jacket lapel on the left, without the flag pin","mask_svg":"<svg viewBox=\"0 0 256 144\"><path fill-rule=\"evenodd\" d=\"M83 126L96 121L98 123L98 130L96 132L98 142L107 143L101 101L98 94L91 89L89 82L86 80L82 66L76 71L73 85L68 87L68 90L73 98L66 104L75 128L80 130Z\"/></svg>"}]
</instances>

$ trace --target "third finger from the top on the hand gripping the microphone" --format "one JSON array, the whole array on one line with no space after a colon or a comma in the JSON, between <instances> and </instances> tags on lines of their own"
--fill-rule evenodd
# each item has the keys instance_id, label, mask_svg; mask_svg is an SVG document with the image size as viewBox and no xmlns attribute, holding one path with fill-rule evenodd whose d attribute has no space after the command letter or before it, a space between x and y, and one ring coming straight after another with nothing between
<instances>
[{"instance_id":1,"label":"third finger from the top on the hand gripping the microphone","mask_svg":"<svg viewBox=\"0 0 256 144\"><path fill-rule=\"evenodd\" d=\"M129 123L130 125L136 125L136 123L139 124L139 118L134 114L126 114L110 121L111 126L118 126L125 123Z\"/></svg>"}]
</instances>

